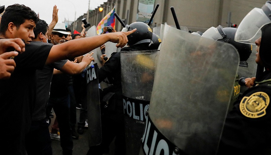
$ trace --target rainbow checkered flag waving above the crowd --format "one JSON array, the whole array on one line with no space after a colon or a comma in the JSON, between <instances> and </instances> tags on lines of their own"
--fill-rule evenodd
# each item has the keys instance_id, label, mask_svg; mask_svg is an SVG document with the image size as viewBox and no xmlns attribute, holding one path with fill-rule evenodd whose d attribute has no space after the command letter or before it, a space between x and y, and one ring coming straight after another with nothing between
<instances>
[{"instance_id":1,"label":"rainbow checkered flag waving above the crowd","mask_svg":"<svg viewBox=\"0 0 271 155\"><path fill-rule=\"evenodd\" d=\"M97 25L97 34L101 34L103 32L103 28L107 26L111 26L115 29L115 6L114 8L99 22Z\"/></svg>"}]
</instances>

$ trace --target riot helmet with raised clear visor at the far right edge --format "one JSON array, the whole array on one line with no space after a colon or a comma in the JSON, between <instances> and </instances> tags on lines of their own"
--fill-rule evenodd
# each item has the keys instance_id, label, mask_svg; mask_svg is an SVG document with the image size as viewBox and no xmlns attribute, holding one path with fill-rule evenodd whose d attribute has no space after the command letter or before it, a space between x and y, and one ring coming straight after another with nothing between
<instances>
[{"instance_id":1,"label":"riot helmet with raised clear visor at the far right edge","mask_svg":"<svg viewBox=\"0 0 271 155\"><path fill-rule=\"evenodd\" d=\"M259 56L265 67L271 68L271 1L262 8L252 9L242 20L235 34L235 41L255 44L261 38ZM261 31L260 31L261 30Z\"/></svg>"}]
</instances>

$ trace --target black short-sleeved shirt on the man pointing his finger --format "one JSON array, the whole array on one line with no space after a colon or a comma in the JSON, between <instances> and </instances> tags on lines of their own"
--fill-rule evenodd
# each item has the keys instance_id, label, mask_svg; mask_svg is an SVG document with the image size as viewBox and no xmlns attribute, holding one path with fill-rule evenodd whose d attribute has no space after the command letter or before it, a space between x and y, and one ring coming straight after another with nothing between
<instances>
[{"instance_id":1,"label":"black short-sleeved shirt on the man pointing his finger","mask_svg":"<svg viewBox=\"0 0 271 155\"><path fill-rule=\"evenodd\" d=\"M42 69L53 44L26 44L25 52L14 58L16 67L9 79L0 80L0 124L2 151L24 154L36 99L36 69ZM3 153L1 151L1 153ZM3 153L5 154L5 153Z\"/></svg>"}]
</instances>

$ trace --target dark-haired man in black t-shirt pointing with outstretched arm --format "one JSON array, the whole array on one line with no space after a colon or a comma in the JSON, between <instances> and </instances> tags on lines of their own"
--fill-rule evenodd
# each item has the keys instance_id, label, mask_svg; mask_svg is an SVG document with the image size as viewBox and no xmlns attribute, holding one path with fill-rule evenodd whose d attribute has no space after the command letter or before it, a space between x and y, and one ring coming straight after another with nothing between
<instances>
[{"instance_id":1,"label":"dark-haired man in black t-shirt pointing with outstretched arm","mask_svg":"<svg viewBox=\"0 0 271 155\"><path fill-rule=\"evenodd\" d=\"M0 38L21 38L26 42L25 52L14 58L16 68L7 80L0 80L0 124L1 154L26 154L25 134L29 131L32 110L36 98L37 69L44 64L84 55L100 47L105 42L116 42L117 47L124 47L130 32L116 32L95 37L71 40L67 43L52 45L30 44L34 38L33 29L38 20L37 14L29 7L14 4L8 6L2 15ZM71 48L72 47L72 48Z\"/></svg>"}]
</instances>

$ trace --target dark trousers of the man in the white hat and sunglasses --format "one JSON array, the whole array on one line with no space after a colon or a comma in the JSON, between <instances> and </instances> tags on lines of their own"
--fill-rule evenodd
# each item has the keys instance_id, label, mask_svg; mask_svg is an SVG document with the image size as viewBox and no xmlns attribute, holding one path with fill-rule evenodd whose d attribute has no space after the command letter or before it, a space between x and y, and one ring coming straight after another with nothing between
<instances>
[{"instance_id":1,"label":"dark trousers of the man in the white hat and sunglasses","mask_svg":"<svg viewBox=\"0 0 271 155\"><path fill-rule=\"evenodd\" d=\"M47 115L51 109L57 117L59 131L60 131L60 146L62 147L63 154L72 154L72 129L70 126L70 95L64 97L50 96L47 107Z\"/></svg>"}]
</instances>

